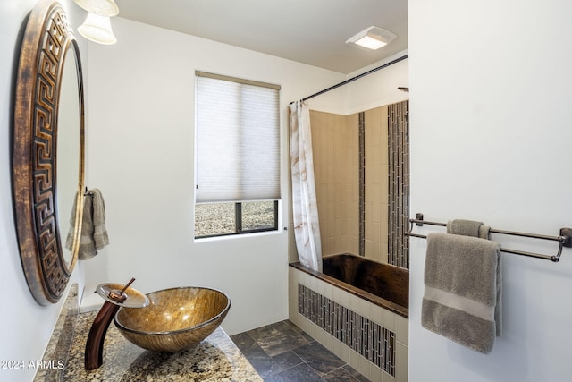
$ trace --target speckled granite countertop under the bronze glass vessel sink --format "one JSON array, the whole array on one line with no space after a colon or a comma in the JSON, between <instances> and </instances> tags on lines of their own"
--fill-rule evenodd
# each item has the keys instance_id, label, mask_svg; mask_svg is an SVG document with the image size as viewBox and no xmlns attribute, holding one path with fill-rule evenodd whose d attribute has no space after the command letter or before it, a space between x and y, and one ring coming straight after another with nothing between
<instances>
[{"instance_id":1,"label":"speckled granite countertop under the bronze glass vessel sink","mask_svg":"<svg viewBox=\"0 0 572 382\"><path fill-rule=\"evenodd\" d=\"M105 336L104 364L86 371L85 344L96 315L78 316L63 381L262 381L221 327L193 349L159 353L131 344L112 323Z\"/></svg>"}]
</instances>

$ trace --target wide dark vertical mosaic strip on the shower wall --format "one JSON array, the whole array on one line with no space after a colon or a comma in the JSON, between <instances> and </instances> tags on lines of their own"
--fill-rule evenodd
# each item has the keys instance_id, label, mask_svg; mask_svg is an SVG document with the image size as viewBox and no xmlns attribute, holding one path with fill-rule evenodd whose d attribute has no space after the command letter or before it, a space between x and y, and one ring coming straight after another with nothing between
<instances>
[{"instance_id":1,"label":"wide dark vertical mosaic strip on the shower wall","mask_svg":"<svg viewBox=\"0 0 572 382\"><path fill-rule=\"evenodd\" d=\"M409 268L409 101L388 107L388 262Z\"/></svg>"}]
</instances>

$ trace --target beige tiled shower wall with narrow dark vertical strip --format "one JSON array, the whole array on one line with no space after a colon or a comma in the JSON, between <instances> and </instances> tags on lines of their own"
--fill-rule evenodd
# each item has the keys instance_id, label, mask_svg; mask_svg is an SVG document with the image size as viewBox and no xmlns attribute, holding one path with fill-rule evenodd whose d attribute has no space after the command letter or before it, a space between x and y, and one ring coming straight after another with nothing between
<instances>
[{"instance_id":1,"label":"beige tiled shower wall with narrow dark vertical strip","mask_svg":"<svg viewBox=\"0 0 572 382\"><path fill-rule=\"evenodd\" d=\"M311 111L310 119L322 254L387 263L388 106L353 115Z\"/></svg>"}]
</instances>

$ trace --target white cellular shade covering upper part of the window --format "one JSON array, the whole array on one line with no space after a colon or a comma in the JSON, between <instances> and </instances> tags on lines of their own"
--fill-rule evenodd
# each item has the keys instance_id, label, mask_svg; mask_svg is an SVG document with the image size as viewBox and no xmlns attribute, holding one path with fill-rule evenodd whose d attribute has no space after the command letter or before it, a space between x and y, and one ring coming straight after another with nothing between
<instances>
[{"instance_id":1,"label":"white cellular shade covering upper part of the window","mask_svg":"<svg viewBox=\"0 0 572 382\"><path fill-rule=\"evenodd\" d=\"M278 89L196 80L196 201L280 199Z\"/></svg>"}]
</instances>

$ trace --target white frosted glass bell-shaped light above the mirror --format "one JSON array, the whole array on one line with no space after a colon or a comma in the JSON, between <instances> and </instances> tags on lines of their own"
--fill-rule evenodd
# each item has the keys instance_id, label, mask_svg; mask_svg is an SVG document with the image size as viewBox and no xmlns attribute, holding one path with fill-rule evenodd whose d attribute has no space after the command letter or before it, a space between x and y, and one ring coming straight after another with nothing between
<instances>
[{"instance_id":1,"label":"white frosted glass bell-shaped light above the mirror","mask_svg":"<svg viewBox=\"0 0 572 382\"><path fill-rule=\"evenodd\" d=\"M88 17L78 27L81 36L98 44L111 45L117 42L109 19L119 14L119 8L114 0L73 0L73 2L88 11Z\"/></svg>"}]
</instances>

